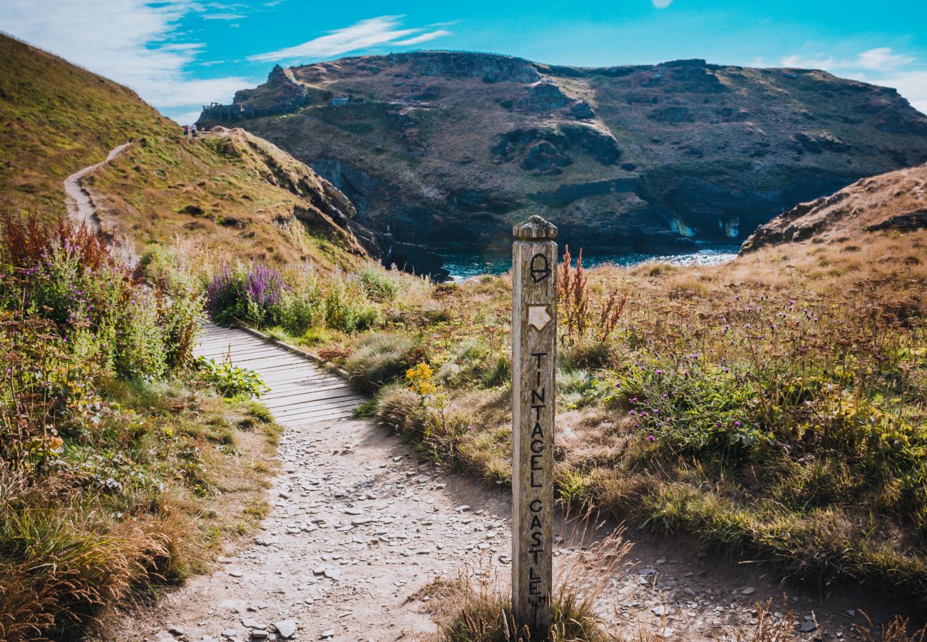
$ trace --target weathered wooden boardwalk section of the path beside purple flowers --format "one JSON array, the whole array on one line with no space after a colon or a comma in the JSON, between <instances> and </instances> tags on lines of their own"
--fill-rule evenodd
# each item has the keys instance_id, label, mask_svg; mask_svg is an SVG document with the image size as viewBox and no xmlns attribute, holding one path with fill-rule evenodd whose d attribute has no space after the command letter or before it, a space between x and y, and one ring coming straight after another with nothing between
<instances>
[{"instance_id":1,"label":"weathered wooden boardwalk section of the path beside purple flowers","mask_svg":"<svg viewBox=\"0 0 927 642\"><path fill-rule=\"evenodd\" d=\"M245 330L208 323L194 353L217 362L228 355L235 366L255 370L271 389L260 401L287 426L352 417L366 399L337 374Z\"/></svg>"}]
</instances>

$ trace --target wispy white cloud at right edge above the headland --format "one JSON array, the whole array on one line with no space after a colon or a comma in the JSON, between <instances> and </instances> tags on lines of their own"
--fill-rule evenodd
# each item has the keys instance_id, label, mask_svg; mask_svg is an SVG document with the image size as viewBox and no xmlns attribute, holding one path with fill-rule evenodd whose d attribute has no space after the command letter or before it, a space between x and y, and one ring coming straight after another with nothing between
<instances>
[{"instance_id":1,"label":"wispy white cloud at right edge above the headland","mask_svg":"<svg viewBox=\"0 0 927 642\"><path fill-rule=\"evenodd\" d=\"M893 87L908 98L908 102L921 113L927 113L927 71L917 58L895 54L891 47L867 49L856 58L834 58L823 54L812 56L786 56L780 59L783 67L832 71L863 83Z\"/></svg>"}]
</instances>

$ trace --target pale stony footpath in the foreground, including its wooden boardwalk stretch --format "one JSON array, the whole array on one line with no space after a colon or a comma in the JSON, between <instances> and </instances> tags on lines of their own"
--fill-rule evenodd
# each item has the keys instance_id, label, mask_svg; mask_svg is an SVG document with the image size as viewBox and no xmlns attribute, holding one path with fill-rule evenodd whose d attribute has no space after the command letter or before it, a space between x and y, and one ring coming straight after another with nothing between
<instances>
[{"instance_id":1,"label":"pale stony footpath in the foreground, including its wooden boardwalk stretch","mask_svg":"<svg viewBox=\"0 0 927 642\"><path fill-rule=\"evenodd\" d=\"M507 577L511 493L464 480L422 459L410 443L354 419L362 395L336 373L245 330L208 325L197 354L228 355L259 372L263 401L284 433L271 514L248 544L226 550L151 610L123 618L116 640L397 640L433 636L422 586L460 573ZM242 462L243 466L253 462ZM607 529L606 529L607 530ZM583 559L593 541L563 520L554 527L554 568ZM786 589L760 563L709 557L688 541L632 529L633 547L604 578L597 604L625 631L672 640L723 639L756 623L756 601L794 610L795 639L852 639L858 592ZM603 562L592 560L594 582ZM885 613L870 610L879 617Z\"/></svg>"}]
</instances>

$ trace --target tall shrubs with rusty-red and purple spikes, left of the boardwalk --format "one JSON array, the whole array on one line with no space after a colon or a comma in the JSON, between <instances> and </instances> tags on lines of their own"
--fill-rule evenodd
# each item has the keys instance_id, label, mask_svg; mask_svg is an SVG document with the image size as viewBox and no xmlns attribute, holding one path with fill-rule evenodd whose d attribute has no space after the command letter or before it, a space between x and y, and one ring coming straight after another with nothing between
<instances>
[{"instance_id":1,"label":"tall shrubs with rusty-red and purple spikes, left of the boardwalk","mask_svg":"<svg viewBox=\"0 0 927 642\"><path fill-rule=\"evenodd\" d=\"M54 322L75 361L94 362L121 377L163 377L192 359L201 305L189 275L161 267L146 286L105 241L62 223L43 234L29 222L6 221L0 302L19 318ZM44 242L30 252L16 243ZM17 266L16 261L35 261ZM149 258L146 268L156 272Z\"/></svg>"}]
</instances>

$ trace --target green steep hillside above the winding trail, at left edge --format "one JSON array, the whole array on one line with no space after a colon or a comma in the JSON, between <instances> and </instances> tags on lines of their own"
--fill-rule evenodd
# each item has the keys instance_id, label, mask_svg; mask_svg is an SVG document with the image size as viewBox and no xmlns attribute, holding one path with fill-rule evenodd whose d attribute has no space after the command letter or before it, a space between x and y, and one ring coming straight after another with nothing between
<instances>
[{"instance_id":1,"label":"green steep hillside above the winding trail, at left edge","mask_svg":"<svg viewBox=\"0 0 927 642\"><path fill-rule=\"evenodd\" d=\"M0 199L65 212L62 182L142 136L180 129L135 93L0 33Z\"/></svg>"}]
</instances>

